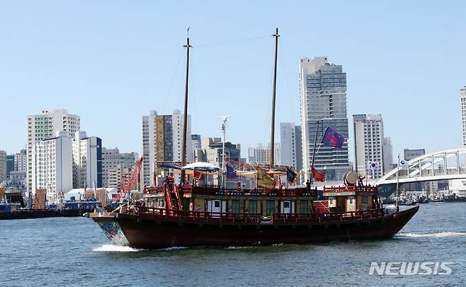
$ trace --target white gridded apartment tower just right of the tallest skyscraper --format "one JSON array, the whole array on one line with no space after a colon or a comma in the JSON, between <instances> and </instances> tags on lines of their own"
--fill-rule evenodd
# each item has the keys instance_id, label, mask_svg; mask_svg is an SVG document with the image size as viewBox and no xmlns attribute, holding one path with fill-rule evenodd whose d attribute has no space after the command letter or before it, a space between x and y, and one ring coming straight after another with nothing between
<instances>
[{"instance_id":1,"label":"white gridded apartment tower just right of the tallest skyscraper","mask_svg":"<svg viewBox=\"0 0 466 287\"><path fill-rule=\"evenodd\" d=\"M383 120L377 115L353 115L355 171L367 175L370 179L378 179L384 174ZM368 162L376 162L378 169L368 169Z\"/></svg>"}]
</instances>

